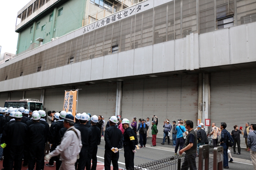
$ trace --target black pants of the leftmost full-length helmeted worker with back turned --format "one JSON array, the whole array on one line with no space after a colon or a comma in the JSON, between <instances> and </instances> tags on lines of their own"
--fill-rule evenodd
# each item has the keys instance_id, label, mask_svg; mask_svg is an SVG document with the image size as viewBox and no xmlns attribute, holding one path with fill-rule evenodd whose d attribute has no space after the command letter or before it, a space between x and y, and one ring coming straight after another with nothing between
<instances>
[{"instance_id":1,"label":"black pants of the leftmost full-length helmeted worker with back turned","mask_svg":"<svg viewBox=\"0 0 256 170\"><path fill-rule=\"evenodd\" d=\"M10 146L9 157L9 170L13 169L13 162L15 164L15 170L21 170L22 168L22 155L24 151L24 145L22 146Z\"/></svg>"}]
</instances>

